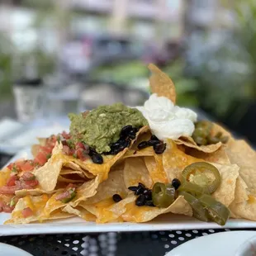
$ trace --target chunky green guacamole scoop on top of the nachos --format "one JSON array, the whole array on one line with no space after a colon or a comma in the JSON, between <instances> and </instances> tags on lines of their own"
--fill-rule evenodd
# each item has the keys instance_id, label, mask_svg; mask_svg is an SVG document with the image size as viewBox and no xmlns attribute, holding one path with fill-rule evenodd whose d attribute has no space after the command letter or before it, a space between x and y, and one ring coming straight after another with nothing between
<instances>
[{"instance_id":1,"label":"chunky green guacamole scoop on top of the nachos","mask_svg":"<svg viewBox=\"0 0 256 256\"><path fill-rule=\"evenodd\" d=\"M140 128L149 125L140 111L122 103L97 107L87 115L69 114L69 119L73 142L83 141L99 154L110 151L111 143L119 139L124 126Z\"/></svg>"}]
</instances>

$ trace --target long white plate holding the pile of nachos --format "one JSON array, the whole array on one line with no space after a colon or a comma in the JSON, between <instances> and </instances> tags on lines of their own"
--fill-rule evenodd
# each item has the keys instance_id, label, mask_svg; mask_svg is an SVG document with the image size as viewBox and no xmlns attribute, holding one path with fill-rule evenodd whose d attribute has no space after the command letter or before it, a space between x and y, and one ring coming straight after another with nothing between
<instances>
[{"instance_id":1,"label":"long white plate holding the pile of nachos","mask_svg":"<svg viewBox=\"0 0 256 256\"><path fill-rule=\"evenodd\" d=\"M31 158L30 149L24 149L10 162L20 158ZM69 218L65 220L52 220L42 224L26 225L3 225L5 220L10 218L10 214L0 214L0 235L36 235L36 234L57 234L57 233L93 233L111 231L148 231L148 230L201 230L220 228L256 228L256 221L250 220L229 220L224 227L211 222L201 222L194 218L179 215L159 216L148 223L107 223L96 224L87 222L80 218Z\"/></svg>"}]
</instances>

